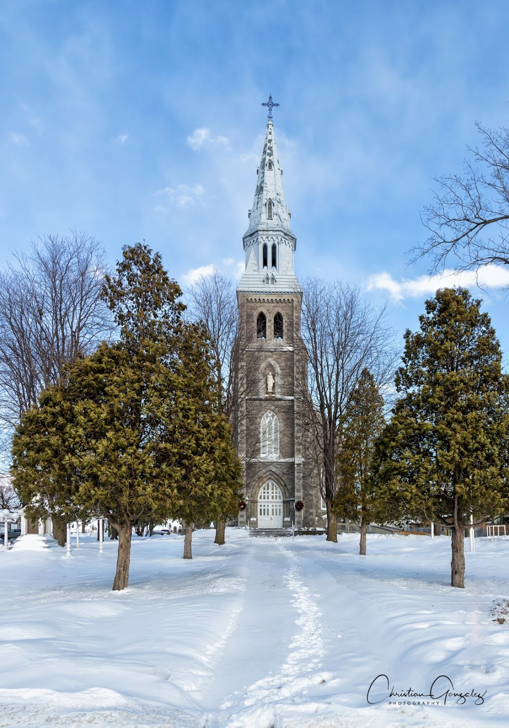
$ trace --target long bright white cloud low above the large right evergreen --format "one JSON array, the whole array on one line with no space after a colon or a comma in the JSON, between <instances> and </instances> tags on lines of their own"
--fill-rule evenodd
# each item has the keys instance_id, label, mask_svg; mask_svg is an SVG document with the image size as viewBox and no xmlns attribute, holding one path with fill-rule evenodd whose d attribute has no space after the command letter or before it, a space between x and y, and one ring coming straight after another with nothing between
<instances>
[{"instance_id":1,"label":"long bright white cloud low above the large right evergreen","mask_svg":"<svg viewBox=\"0 0 509 728\"><path fill-rule=\"evenodd\" d=\"M438 288L503 288L509 286L509 270L505 266L490 264L476 271L454 272L445 269L434 276L419 276L394 280L387 272L376 273L368 278L367 290L384 290L392 301L403 301L405 298L419 298L428 293L435 293Z\"/></svg>"}]
</instances>

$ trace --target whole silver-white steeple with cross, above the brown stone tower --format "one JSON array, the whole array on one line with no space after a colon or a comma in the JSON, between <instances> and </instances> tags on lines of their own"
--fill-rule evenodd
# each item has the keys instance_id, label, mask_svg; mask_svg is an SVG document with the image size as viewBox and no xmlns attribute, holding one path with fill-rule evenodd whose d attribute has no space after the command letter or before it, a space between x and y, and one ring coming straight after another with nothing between
<instances>
[{"instance_id":1,"label":"whole silver-white steeple with cross, above the brown stone tower","mask_svg":"<svg viewBox=\"0 0 509 728\"><path fill-rule=\"evenodd\" d=\"M272 124L272 106L277 104L269 97L269 103L264 106L269 106L269 119L257 170L253 207L249 210L249 226L242 238L245 272L237 290L296 293L300 290L293 272L296 237L290 225L283 170Z\"/></svg>"}]
</instances>

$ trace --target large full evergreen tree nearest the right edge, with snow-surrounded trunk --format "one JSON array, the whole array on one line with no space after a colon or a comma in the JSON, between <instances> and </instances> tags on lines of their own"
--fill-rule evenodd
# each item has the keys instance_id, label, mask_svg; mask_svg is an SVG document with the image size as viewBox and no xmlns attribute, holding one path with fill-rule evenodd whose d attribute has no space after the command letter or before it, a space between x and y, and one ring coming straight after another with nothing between
<instances>
[{"instance_id":1,"label":"large full evergreen tree nearest the right edge, with snow-surrounded trunk","mask_svg":"<svg viewBox=\"0 0 509 728\"><path fill-rule=\"evenodd\" d=\"M405 334L401 398L376 444L379 494L410 518L451 529L451 585L465 585L464 537L508 508L509 378L481 301L464 288L426 301Z\"/></svg>"}]
</instances>

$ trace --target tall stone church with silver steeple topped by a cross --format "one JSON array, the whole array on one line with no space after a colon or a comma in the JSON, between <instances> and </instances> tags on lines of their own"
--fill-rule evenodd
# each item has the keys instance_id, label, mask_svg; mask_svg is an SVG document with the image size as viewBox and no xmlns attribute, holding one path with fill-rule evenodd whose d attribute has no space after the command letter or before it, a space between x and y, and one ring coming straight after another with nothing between
<instances>
[{"instance_id":1,"label":"tall stone church with silver steeple topped by a cross","mask_svg":"<svg viewBox=\"0 0 509 728\"><path fill-rule=\"evenodd\" d=\"M301 339L302 290L293 269L297 241L272 123L278 105L269 97L263 106L269 116L242 238L245 271L237 286L234 438L245 488L238 524L316 529L326 524L325 504L306 447L307 354Z\"/></svg>"}]
</instances>

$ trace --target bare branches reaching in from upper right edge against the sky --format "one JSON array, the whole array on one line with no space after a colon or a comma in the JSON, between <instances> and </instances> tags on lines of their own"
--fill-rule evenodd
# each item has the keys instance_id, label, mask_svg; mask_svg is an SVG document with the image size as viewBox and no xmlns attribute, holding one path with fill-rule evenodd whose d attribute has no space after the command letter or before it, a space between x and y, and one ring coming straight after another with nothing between
<instances>
[{"instance_id":1,"label":"bare branches reaching in from upper right edge against the sky","mask_svg":"<svg viewBox=\"0 0 509 728\"><path fill-rule=\"evenodd\" d=\"M414 261L431 256L431 272L453 261L457 270L509 264L509 129L476 124L481 148L468 147L463 175L436 178L438 191L422 213L430 237Z\"/></svg>"}]
</instances>

